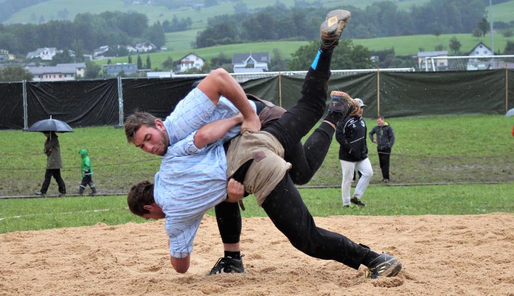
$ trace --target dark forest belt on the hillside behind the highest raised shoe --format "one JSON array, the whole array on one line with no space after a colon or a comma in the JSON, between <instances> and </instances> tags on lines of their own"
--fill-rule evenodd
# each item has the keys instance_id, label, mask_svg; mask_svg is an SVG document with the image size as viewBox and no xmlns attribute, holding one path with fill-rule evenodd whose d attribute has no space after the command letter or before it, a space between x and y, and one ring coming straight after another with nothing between
<instances>
[{"instance_id":1,"label":"dark forest belt on the hillside behind the highest raised shoe","mask_svg":"<svg viewBox=\"0 0 514 296\"><path fill-rule=\"evenodd\" d=\"M484 17L484 0L432 0L398 9L391 1L375 2L352 12L344 38L375 38L414 34L471 33ZM488 2L488 1L487 1ZM495 1L498 3L500 1ZM326 8L267 7L252 14L221 15L208 20L196 37L196 47L270 40L313 40ZM243 19L243 21L241 21Z\"/></svg>"}]
</instances>

